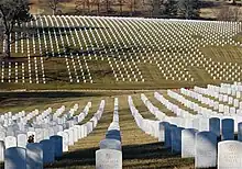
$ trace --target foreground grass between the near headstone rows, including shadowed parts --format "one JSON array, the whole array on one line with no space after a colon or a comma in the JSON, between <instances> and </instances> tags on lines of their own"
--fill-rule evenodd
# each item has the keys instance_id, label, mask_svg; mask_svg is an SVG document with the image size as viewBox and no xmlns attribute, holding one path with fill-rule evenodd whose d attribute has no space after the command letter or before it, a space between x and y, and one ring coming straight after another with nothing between
<instances>
[{"instance_id":1,"label":"foreground grass between the near headstone rows, including shadowed parts","mask_svg":"<svg viewBox=\"0 0 242 169\"><path fill-rule=\"evenodd\" d=\"M165 95L165 92L161 92ZM153 91L145 92L146 97L155 106L160 108L160 110L165 112L167 115L174 115L153 97ZM91 119L94 113L97 111L101 99L106 100L103 115L94 132L88 135L88 137L79 139L75 146L69 147L68 153L64 154L63 157L56 160L54 164L45 166L45 168L95 168L95 151L99 149L99 142L105 138L107 128L112 121L114 98L119 98L120 104L119 115L122 135L123 168L194 168L193 158L182 159L179 155L172 154L170 149L164 148L163 143L160 143L154 137L146 135L136 126L128 105L128 94L133 97L134 104L144 117L155 120L155 116L148 112L146 106L141 101L140 92L79 92L73 94L75 97L70 97L72 94L65 94L64 92L59 94L40 93L38 97L35 95L35 98L26 98L26 95L19 93L1 93L0 112L18 112L21 110L25 110L28 112L34 109L40 109L41 111L46 110L48 106L55 110L62 105L66 105L68 109L75 103L78 103L79 109L81 110L88 101L91 101L92 106L90 109L90 113L81 122L81 124ZM50 95L52 95L52 98ZM81 98L79 98L80 95Z\"/></svg>"}]
</instances>

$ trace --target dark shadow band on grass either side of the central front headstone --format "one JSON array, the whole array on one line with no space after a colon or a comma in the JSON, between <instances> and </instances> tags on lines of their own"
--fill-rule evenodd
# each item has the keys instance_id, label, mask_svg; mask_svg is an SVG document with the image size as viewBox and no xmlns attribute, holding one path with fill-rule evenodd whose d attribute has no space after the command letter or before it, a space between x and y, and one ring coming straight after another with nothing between
<instances>
[{"instance_id":1,"label":"dark shadow band on grass either side of the central front headstone","mask_svg":"<svg viewBox=\"0 0 242 169\"><path fill-rule=\"evenodd\" d=\"M54 164L46 165L45 168L73 168L95 166L95 155L98 147L79 149L67 153ZM122 146L122 156L124 160L155 160L178 158L180 155L170 153L170 149L164 148L163 143L143 144L143 145L127 145ZM130 166L135 167L135 166Z\"/></svg>"}]
</instances>

